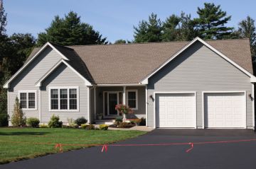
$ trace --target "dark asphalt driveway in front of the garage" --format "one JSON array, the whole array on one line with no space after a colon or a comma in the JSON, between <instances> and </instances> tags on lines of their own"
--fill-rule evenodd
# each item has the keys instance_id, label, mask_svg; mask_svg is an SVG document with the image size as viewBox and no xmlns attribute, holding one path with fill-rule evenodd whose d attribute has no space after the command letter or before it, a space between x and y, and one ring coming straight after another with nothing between
<instances>
[{"instance_id":1,"label":"dark asphalt driveway in front of the garage","mask_svg":"<svg viewBox=\"0 0 256 169\"><path fill-rule=\"evenodd\" d=\"M155 129L144 136L118 144L162 144L201 141L256 139L245 129ZM256 141L171 146L110 146L85 148L26 161L0 165L0 168L255 168Z\"/></svg>"}]
</instances>

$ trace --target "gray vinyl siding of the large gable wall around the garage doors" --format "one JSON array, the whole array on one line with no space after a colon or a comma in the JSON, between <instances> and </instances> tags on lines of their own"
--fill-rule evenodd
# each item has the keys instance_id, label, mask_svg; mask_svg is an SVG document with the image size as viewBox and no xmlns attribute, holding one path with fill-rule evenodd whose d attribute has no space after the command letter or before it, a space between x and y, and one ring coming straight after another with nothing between
<instances>
[{"instance_id":1,"label":"gray vinyl siding of the large gable wall around the garage doors","mask_svg":"<svg viewBox=\"0 0 256 169\"><path fill-rule=\"evenodd\" d=\"M203 127L203 91L246 91L252 94L250 77L201 42L186 49L149 78L148 125L154 126L154 92L196 92L197 127ZM247 98L247 127L253 126L252 100Z\"/></svg>"}]
</instances>

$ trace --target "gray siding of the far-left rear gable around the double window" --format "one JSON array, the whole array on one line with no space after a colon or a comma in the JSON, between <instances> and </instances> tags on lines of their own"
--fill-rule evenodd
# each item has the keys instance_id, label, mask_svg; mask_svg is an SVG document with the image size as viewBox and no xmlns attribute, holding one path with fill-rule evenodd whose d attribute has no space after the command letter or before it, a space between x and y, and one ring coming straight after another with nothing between
<instances>
[{"instance_id":1,"label":"gray siding of the far-left rear gable around the double window","mask_svg":"<svg viewBox=\"0 0 256 169\"><path fill-rule=\"evenodd\" d=\"M36 57L28 66L23 69L10 84L9 88L9 115L11 117L14 110L14 103L16 96L18 97L18 91L37 91L37 110L23 110L26 117L39 118L39 88L35 86L41 76L53 67L55 63L60 60L60 55L52 48L46 47L41 54Z\"/></svg>"}]
</instances>

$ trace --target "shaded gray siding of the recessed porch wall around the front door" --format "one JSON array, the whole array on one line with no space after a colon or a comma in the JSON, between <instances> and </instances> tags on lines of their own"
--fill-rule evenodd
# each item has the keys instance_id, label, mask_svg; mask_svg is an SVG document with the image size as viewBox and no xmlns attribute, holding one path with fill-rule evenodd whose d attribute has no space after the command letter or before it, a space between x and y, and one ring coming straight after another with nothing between
<instances>
[{"instance_id":1,"label":"shaded gray siding of the recessed porch wall around the front door","mask_svg":"<svg viewBox=\"0 0 256 169\"><path fill-rule=\"evenodd\" d=\"M130 117L146 117L146 98L145 86L127 86L127 90L138 90L138 110L134 110L134 116ZM105 91L120 91L123 92L123 87L97 87L96 88L96 114L103 114L103 93ZM99 95L102 95L99 97Z\"/></svg>"}]
</instances>

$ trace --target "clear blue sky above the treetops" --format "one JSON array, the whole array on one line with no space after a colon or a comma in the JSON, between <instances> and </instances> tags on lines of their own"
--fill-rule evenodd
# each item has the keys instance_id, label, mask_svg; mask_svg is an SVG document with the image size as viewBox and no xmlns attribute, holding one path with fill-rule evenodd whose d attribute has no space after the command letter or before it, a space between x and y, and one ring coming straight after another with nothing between
<instances>
[{"instance_id":1,"label":"clear blue sky above the treetops","mask_svg":"<svg viewBox=\"0 0 256 169\"><path fill-rule=\"evenodd\" d=\"M133 25L142 19L146 20L150 13L156 13L161 20L171 14L179 15L181 11L196 17L197 7L204 2L220 4L223 11L231 15L228 25L237 27L238 22L246 16L256 19L255 0L4 0L7 13L7 33L32 33L35 37L48 28L54 16L63 17L69 11L81 16L82 22L89 23L99 30L107 40L133 39Z\"/></svg>"}]
</instances>

